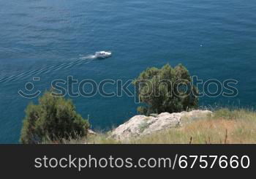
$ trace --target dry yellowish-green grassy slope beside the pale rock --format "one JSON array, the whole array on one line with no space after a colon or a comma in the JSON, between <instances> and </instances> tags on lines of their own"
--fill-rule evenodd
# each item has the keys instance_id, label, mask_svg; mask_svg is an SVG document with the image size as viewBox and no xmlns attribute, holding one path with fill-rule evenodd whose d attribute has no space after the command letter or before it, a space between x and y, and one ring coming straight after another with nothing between
<instances>
[{"instance_id":1,"label":"dry yellowish-green grassy slope beside the pale rock","mask_svg":"<svg viewBox=\"0 0 256 179\"><path fill-rule=\"evenodd\" d=\"M74 142L74 141L73 141ZM73 143L72 142L72 143ZM85 140L75 141L84 143ZM121 143L107 138L107 134L91 137L89 143ZM167 129L140 139L132 139L132 144L206 144L206 143L256 143L256 113L249 110L217 110L214 117L185 123L175 129Z\"/></svg>"}]
</instances>

